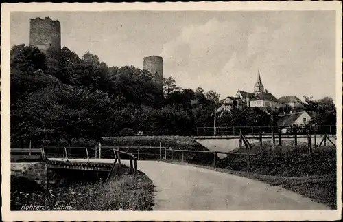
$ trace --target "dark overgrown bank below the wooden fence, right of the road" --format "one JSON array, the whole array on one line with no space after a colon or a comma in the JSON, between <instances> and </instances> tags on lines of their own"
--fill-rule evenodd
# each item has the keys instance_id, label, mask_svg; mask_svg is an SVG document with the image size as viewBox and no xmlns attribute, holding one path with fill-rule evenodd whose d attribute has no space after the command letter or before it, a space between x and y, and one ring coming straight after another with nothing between
<instances>
[{"instance_id":1,"label":"dark overgrown bank below the wooden fence, right of the road","mask_svg":"<svg viewBox=\"0 0 343 222\"><path fill-rule=\"evenodd\" d=\"M250 172L279 177L331 175L336 172L336 149L320 147L307 154L303 146L254 146L250 151L237 149L235 153L254 153L250 157ZM228 155L217 161L217 166L230 170L246 171L246 156Z\"/></svg>"}]
</instances>

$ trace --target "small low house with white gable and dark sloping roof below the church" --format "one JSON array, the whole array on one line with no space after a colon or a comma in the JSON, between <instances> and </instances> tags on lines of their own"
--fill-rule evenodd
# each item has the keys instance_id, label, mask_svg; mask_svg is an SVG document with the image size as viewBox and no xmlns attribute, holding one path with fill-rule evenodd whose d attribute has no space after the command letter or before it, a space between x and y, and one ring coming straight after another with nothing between
<instances>
[{"instance_id":1,"label":"small low house with white gable and dark sloping roof below the church","mask_svg":"<svg viewBox=\"0 0 343 222\"><path fill-rule=\"evenodd\" d=\"M303 126L311 120L311 116L306 111L281 115L277 119L279 128L287 128L289 126Z\"/></svg>"}]
</instances>

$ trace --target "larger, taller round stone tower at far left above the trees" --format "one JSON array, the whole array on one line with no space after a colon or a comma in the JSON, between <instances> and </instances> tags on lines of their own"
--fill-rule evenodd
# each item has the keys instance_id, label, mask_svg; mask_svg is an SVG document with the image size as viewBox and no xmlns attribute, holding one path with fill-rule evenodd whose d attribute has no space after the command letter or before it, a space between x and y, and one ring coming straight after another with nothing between
<instances>
[{"instance_id":1,"label":"larger, taller round stone tower at far left above the trees","mask_svg":"<svg viewBox=\"0 0 343 222\"><path fill-rule=\"evenodd\" d=\"M29 45L34 45L47 56L49 67L58 67L61 55L60 21L31 19L29 28Z\"/></svg>"}]
</instances>

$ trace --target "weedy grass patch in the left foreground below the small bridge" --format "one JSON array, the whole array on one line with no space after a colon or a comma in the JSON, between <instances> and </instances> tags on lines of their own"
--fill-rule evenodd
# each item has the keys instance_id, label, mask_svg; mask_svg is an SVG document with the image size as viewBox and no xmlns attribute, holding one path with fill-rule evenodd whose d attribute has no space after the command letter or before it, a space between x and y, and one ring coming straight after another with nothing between
<instances>
[{"instance_id":1,"label":"weedy grass patch in the left foreground below the small bridge","mask_svg":"<svg viewBox=\"0 0 343 222\"><path fill-rule=\"evenodd\" d=\"M122 166L124 168L124 166ZM46 190L36 182L11 176L11 210L43 206L43 210L152 210L154 185L141 171L107 183L72 184Z\"/></svg>"}]
</instances>

